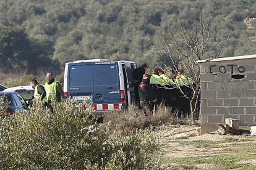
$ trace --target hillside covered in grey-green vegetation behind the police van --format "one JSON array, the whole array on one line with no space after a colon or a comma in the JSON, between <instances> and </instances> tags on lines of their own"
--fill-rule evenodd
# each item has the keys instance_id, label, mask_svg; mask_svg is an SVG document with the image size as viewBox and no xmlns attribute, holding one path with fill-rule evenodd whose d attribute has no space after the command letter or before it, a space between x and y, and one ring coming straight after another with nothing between
<instances>
[{"instance_id":1,"label":"hillside covered in grey-green vegetation behind the police van","mask_svg":"<svg viewBox=\"0 0 256 170\"><path fill-rule=\"evenodd\" d=\"M229 36L224 57L255 54L254 0L19 0L0 1L1 73L61 73L79 59L159 61L161 31L179 33L200 14L211 23L212 43ZM226 36L226 37L225 37ZM152 55L153 52L153 55Z\"/></svg>"}]
</instances>

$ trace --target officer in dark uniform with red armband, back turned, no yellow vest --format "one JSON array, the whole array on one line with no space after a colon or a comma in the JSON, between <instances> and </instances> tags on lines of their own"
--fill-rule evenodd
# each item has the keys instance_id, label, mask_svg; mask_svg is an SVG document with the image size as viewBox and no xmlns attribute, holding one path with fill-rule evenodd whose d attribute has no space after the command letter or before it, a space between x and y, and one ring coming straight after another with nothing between
<instances>
[{"instance_id":1,"label":"officer in dark uniform with red armband, back turned, no yellow vest","mask_svg":"<svg viewBox=\"0 0 256 170\"><path fill-rule=\"evenodd\" d=\"M153 108L150 107L150 103L155 103L157 99L152 87L150 86L150 75L143 75L142 83L139 85L139 97L140 107L143 109L148 107L150 111L153 111Z\"/></svg>"}]
</instances>

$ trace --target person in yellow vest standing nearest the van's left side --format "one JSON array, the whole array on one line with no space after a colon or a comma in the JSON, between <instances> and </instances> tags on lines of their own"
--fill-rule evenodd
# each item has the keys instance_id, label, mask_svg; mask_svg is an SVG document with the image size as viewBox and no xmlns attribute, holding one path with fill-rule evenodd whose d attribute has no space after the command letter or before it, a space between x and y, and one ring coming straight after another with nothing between
<instances>
[{"instance_id":1,"label":"person in yellow vest standing nearest the van's left side","mask_svg":"<svg viewBox=\"0 0 256 170\"><path fill-rule=\"evenodd\" d=\"M51 100L56 99L58 102L61 102L61 99L64 99L64 92L61 87L61 83L54 79L53 73L47 73L45 76L45 91L46 91L46 100L47 105L53 113L53 107L51 106Z\"/></svg>"}]
</instances>

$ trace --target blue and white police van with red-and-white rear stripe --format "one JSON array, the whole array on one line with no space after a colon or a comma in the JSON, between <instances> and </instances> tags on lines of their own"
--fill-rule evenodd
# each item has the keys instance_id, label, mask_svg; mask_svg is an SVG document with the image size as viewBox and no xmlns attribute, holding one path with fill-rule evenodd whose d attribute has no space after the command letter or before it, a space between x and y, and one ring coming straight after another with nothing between
<instances>
[{"instance_id":1,"label":"blue and white police van with red-and-white rear stripe","mask_svg":"<svg viewBox=\"0 0 256 170\"><path fill-rule=\"evenodd\" d=\"M135 62L107 59L66 63L64 94L82 102L92 100L96 113L121 110L134 102Z\"/></svg>"}]
</instances>

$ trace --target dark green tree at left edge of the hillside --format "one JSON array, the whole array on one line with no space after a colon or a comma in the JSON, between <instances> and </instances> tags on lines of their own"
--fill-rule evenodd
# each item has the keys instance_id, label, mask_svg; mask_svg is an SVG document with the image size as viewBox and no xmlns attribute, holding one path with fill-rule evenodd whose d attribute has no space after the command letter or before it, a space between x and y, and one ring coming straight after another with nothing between
<instances>
[{"instance_id":1,"label":"dark green tree at left edge of the hillside","mask_svg":"<svg viewBox=\"0 0 256 170\"><path fill-rule=\"evenodd\" d=\"M0 28L0 67L3 73L41 73L51 69L53 60L45 49L19 28ZM58 62L51 70L59 70Z\"/></svg>"}]
</instances>

